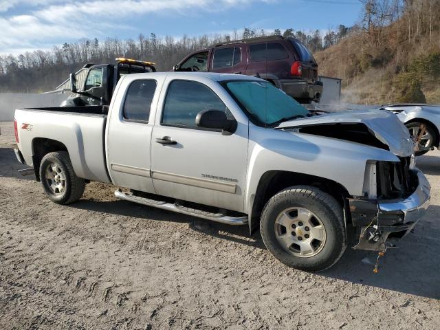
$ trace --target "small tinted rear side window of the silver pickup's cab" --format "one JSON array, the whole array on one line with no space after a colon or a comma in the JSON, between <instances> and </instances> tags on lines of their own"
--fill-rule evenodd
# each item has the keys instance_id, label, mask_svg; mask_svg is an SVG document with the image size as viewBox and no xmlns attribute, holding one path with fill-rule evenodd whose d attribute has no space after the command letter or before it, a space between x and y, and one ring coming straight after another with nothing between
<instances>
[{"instance_id":1,"label":"small tinted rear side window of the silver pickup's cab","mask_svg":"<svg viewBox=\"0 0 440 330\"><path fill-rule=\"evenodd\" d=\"M135 80L130 84L122 109L125 120L148 122L156 85L153 79Z\"/></svg>"}]
</instances>

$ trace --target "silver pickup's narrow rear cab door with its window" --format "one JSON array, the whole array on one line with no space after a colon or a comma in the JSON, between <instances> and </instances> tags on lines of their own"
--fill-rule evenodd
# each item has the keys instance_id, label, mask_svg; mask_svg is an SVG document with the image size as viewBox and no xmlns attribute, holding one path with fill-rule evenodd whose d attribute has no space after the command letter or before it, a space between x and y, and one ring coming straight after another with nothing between
<instances>
[{"instance_id":1,"label":"silver pickup's narrow rear cab door with its window","mask_svg":"<svg viewBox=\"0 0 440 330\"><path fill-rule=\"evenodd\" d=\"M107 168L113 184L154 193L151 181L151 131L157 80L127 76L115 93L107 124ZM153 105L154 108L154 105Z\"/></svg>"}]
</instances>

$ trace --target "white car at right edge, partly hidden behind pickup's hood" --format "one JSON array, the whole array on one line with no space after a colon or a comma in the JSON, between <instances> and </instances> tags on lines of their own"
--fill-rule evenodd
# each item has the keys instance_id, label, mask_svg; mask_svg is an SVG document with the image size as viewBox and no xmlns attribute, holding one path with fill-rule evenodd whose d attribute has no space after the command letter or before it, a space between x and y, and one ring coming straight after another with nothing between
<instances>
[{"instance_id":1,"label":"white car at right edge, partly hidden behind pickup's hood","mask_svg":"<svg viewBox=\"0 0 440 330\"><path fill-rule=\"evenodd\" d=\"M380 109L395 113L399 120L408 127L410 135L418 138L417 156L427 153L434 147L439 148L440 105L389 104L382 105Z\"/></svg>"}]
</instances>

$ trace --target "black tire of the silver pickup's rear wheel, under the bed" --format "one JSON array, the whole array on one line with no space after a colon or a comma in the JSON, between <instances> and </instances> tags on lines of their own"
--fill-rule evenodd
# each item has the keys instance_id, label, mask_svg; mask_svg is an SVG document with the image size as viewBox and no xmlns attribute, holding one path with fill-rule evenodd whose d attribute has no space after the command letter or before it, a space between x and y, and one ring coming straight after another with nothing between
<instances>
[{"instance_id":1,"label":"black tire of the silver pickup's rear wheel, under the bed","mask_svg":"<svg viewBox=\"0 0 440 330\"><path fill-rule=\"evenodd\" d=\"M51 181L47 179L46 175L48 168L54 164L62 171L64 177L64 180L61 180L64 188L62 191L58 190L58 192L51 188ZM78 201L83 196L85 180L76 176L69 154L66 151L47 153L41 159L40 179L47 197L55 203L69 204Z\"/></svg>"}]
</instances>

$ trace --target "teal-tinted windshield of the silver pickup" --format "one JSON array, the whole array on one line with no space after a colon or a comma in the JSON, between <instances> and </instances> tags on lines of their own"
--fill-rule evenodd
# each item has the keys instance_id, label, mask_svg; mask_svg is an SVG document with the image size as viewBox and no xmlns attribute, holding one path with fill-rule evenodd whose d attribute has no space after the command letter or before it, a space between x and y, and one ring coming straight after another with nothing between
<instances>
[{"instance_id":1,"label":"teal-tinted windshield of the silver pickup","mask_svg":"<svg viewBox=\"0 0 440 330\"><path fill-rule=\"evenodd\" d=\"M244 110L263 126L276 126L309 115L305 107L271 83L237 80L225 86Z\"/></svg>"}]
</instances>

